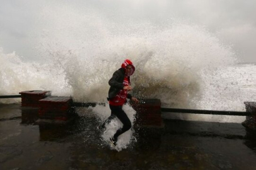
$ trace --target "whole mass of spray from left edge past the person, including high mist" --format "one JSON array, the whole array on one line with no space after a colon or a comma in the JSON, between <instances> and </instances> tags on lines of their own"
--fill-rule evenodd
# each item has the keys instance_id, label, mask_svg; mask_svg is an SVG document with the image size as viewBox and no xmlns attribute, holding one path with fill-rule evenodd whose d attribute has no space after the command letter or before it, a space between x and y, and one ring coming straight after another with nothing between
<instances>
[{"instance_id":1,"label":"whole mass of spray from left edge past the person, including high mist","mask_svg":"<svg viewBox=\"0 0 256 170\"><path fill-rule=\"evenodd\" d=\"M178 18L120 22L66 5L46 3L35 16L34 62L15 55L16 63L1 52L6 65L0 68L1 94L42 89L78 102L107 102L108 80L124 59L131 59L134 96L161 99L166 107L197 108L206 86L201 72L236 62L231 47L204 26Z\"/></svg>"}]
</instances>

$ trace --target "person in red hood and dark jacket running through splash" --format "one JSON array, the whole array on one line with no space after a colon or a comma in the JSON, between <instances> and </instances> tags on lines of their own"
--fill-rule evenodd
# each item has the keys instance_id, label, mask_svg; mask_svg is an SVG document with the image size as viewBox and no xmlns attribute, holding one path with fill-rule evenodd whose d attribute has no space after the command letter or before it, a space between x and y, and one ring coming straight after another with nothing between
<instances>
[{"instance_id":1,"label":"person in red hood and dark jacket running through splash","mask_svg":"<svg viewBox=\"0 0 256 170\"><path fill-rule=\"evenodd\" d=\"M132 123L128 116L122 110L123 105L127 102L127 98L139 103L137 98L134 98L128 91L132 90L130 76L134 74L135 67L131 60L126 59L121 65L121 68L113 73L113 76L108 81L110 89L108 91L108 102L111 110L111 115L105 120L105 122L98 128L103 129L105 126L113 120L113 118L119 118L123 123L123 127L119 128L117 132L110 137L110 141L113 145L117 145L117 139L122 133L126 132L132 127Z\"/></svg>"}]
</instances>

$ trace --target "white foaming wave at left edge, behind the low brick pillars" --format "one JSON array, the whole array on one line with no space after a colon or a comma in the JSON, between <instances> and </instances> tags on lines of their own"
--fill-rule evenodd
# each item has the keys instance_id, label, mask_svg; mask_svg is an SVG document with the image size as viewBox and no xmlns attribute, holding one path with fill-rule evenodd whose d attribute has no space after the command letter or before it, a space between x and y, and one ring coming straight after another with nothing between
<instances>
[{"instance_id":1,"label":"white foaming wave at left edge, behind the low brick pillars","mask_svg":"<svg viewBox=\"0 0 256 170\"><path fill-rule=\"evenodd\" d=\"M62 70L53 62L40 64L24 62L15 54L4 54L0 48L0 95L18 94L28 90L51 90L54 95L71 95ZM1 103L14 103L20 99L4 99Z\"/></svg>"}]
</instances>

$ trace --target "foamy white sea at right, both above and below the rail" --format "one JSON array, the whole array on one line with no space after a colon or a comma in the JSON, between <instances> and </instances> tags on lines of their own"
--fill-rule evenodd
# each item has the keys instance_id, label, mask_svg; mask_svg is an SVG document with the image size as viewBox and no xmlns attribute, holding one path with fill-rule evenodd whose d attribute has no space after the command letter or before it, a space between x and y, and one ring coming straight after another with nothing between
<instances>
[{"instance_id":1,"label":"foamy white sea at right, both above and below the rail","mask_svg":"<svg viewBox=\"0 0 256 170\"><path fill-rule=\"evenodd\" d=\"M255 101L255 64L220 66L201 72L201 96L196 108L201 110L245 111L245 101ZM241 123L245 116L218 116L164 113L165 118L204 122Z\"/></svg>"}]
</instances>

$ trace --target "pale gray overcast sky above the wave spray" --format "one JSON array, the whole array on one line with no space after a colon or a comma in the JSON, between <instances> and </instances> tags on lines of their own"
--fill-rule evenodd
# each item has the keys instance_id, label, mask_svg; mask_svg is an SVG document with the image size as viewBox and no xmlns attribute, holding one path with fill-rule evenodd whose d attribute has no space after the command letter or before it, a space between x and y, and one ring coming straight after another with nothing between
<instances>
[{"instance_id":1,"label":"pale gray overcast sky above the wave spray","mask_svg":"<svg viewBox=\"0 0 256 170\"><path fill-rule=\"evenodd\" d=\"M90 17L91 10L116 23L132 20L157 24L178 18L205 26L224 44L232 45L242 62L256 62L255 0L0 0L0 4L0 47L6 54L15 51L27 59L37 55L37 37L44 25L52 24L55 9L61 6L63 13L72 9L78 16Z\"/></svg>"}]
</instances>

